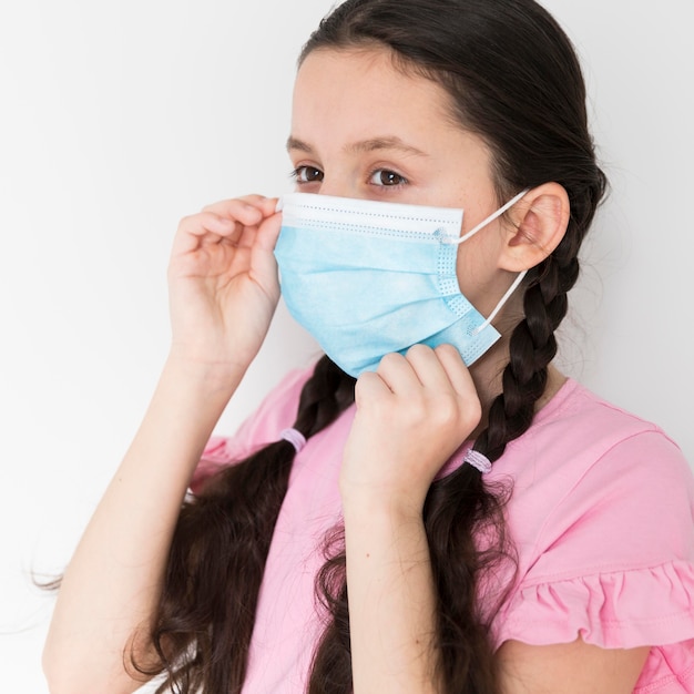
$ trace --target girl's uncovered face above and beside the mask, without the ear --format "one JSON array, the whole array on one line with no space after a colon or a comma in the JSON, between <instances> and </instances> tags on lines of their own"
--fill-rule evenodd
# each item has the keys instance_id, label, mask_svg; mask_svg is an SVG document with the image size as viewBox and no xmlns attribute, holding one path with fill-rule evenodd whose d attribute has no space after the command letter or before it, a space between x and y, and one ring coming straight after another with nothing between
<instances>
[{"instance_id":1,"label":"girl's uncovered face above and beside the mask, without the ear","mask_svg":"<svg viewBox=\"0 0 694 694\"><path fill-rule=\"evenodd\" d=\"M308 54L287 149L298 191L462 207L463 232L506 202L496 197L488 147L456 123L445 90L396 69L385 49ZM512 278L497 266L501 224L491 223L458 253L460 288L484 315Z\"/></svg>"}]
</instances>

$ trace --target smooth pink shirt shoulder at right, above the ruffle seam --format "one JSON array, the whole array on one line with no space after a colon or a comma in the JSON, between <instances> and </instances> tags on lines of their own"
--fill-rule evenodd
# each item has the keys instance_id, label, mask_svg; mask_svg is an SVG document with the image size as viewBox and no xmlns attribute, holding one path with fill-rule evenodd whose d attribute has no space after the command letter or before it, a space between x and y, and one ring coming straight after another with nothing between
<instances>
[{"instance_id":1,"label":"smooth pink shirt shoulder at right, above the ruffle seam","mask_svg":"<svg viewBox=\"0 0 694 694\"><path fill-rule=\"evenodd\" d=\"M553 567L567 575L673 553L694 561L694 476L682 451L657 426L575 381L509 446L496 473L513 480L510 524L533 548L528 562L558 545L585 554L583 564Z\"/></svg>"}]
</instances>

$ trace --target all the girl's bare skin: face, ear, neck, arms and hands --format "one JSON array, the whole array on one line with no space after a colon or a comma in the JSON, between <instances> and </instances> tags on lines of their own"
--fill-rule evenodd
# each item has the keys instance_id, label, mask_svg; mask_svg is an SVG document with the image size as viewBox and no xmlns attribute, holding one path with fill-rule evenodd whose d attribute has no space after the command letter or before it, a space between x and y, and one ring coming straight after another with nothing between
<instances>
[{"instance_id":1,"label":"all the girl's bare skin: face, ear, neck, arms and hands","mask_svg":"<svg viewBox=\"0 0 694 694\"><path fill-rule=\"evenodd\" d=\"M299 190L460 206L462 232L501 204L484 143L452 122L439 86L394 69L381 50L318 51L306 59L289 154ZM275 203L258 195L222 201L178 226L169 271L170 356L65 572L43 657L54 694L120 694L141 685L123 664L123 649L152 614L191 476L279 297ZM518 272L551 253L568 214L565 192L548 183L508 221L462 244L460 286L478 309L490 312ZM497 325L506 331L516 320L511 304ZM421 507L436 472L483 421L507 359L504 340L471 369L449 346L419 346L406 357L388 355L377 372L358 379L340 474L356 694L440 691ZM562 382L552 369L539 406ZM132 643L147 655L146 641ZM626 694L646 654L580 640L508 642L499 651L503 691Z\"/></svg>"}]
</instances>

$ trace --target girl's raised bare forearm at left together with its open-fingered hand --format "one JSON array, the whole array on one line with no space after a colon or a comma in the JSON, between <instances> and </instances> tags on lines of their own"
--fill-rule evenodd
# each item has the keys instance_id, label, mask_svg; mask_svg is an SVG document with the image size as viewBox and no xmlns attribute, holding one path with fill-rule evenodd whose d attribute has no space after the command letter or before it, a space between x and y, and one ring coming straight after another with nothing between
<instances>
[{"instance_id":1,"label":"girl's raised bare forearm at left together with its open-fingered hand","mask_svg":"<svg viewBox=\"0 0 694 694\"><path fill-rule=\"evenodd\" d=\"M185 490L278 299L274 207L259 196L226 201L178 227L171 354L65 570L43 654L53 694L120 694L142 684L130 649L140 662L151 653L147 622Z\"/></svg>"}]
</instances>

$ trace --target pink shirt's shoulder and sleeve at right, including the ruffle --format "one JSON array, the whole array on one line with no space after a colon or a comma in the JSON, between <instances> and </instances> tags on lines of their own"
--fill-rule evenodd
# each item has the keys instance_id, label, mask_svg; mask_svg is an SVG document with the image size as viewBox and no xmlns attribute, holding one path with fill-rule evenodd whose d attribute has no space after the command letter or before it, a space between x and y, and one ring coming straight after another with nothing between
<instances>
[{"instance_id":1,"label":"pink shirt's shoulder and sleeve at right, including the ruffle","mask_svg":"<svg viewBox=\"0 0 694 694\"><path fill-rule=\"evenodd\" d=\"M502 640L694 637L694 476L682 451L574 381L545 409L500 459L518 551Z\"/></svg>"}]
</instances>

